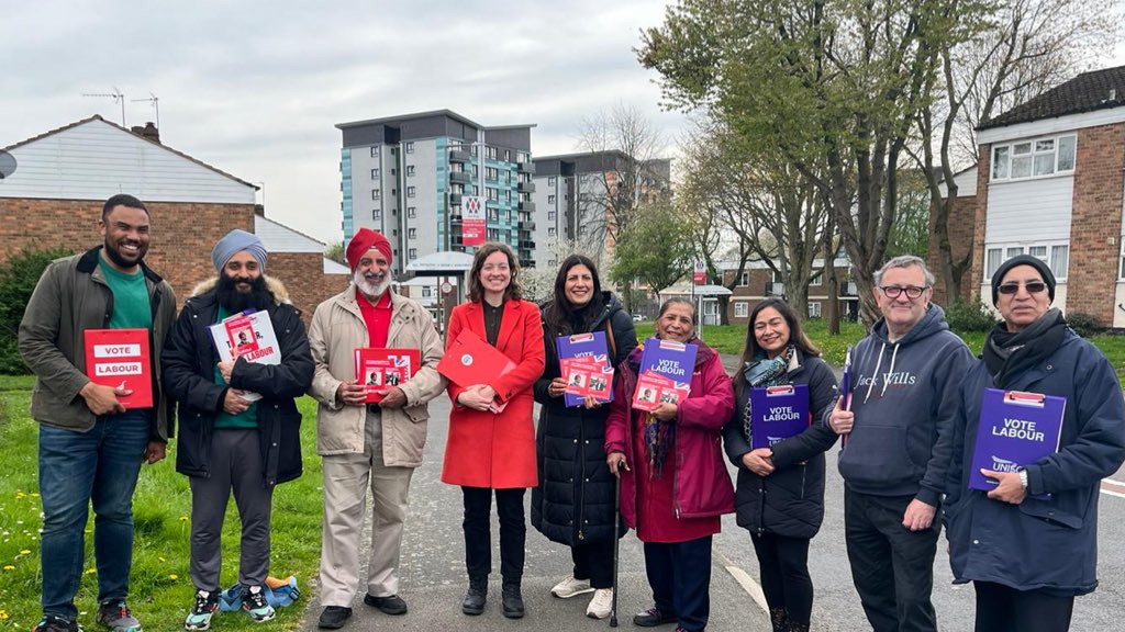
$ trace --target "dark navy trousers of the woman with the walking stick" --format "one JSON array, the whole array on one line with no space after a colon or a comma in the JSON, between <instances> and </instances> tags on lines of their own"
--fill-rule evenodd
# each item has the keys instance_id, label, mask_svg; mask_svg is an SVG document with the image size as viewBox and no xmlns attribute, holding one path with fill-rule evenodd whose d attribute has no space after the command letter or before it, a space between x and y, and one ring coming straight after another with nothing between
<instances>
[{"instance_id":1,"label":"dark navy trousers of the woman with the walking stick","mask_svg":"<svg viewBox=\"0 0 1125 632\"><path fill-rule=\"evenodd\" d=\"M687 632L705 629L711 616L711 538L645 542L645 572L654 605L664 614L675 613Z\"/></svg>"}]
</instances>

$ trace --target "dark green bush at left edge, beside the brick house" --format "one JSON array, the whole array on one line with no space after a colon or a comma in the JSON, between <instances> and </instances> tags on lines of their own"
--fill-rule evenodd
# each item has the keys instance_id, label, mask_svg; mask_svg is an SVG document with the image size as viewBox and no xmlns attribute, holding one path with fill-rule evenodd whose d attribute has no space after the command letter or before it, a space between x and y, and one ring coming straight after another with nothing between
<instances>
[{"instance_id":1,"label":"dark green bush at left edge, beside the brick house","mask_svg":"<svg viewBox=\"0 0 1125 632\"><path fill-rule=\"evenodd\" d=\"M0 373L28 372L17 347L19 322L47 264L69 254L65 249L21 251L0 265Z\"/></svg>"}]
</instances>

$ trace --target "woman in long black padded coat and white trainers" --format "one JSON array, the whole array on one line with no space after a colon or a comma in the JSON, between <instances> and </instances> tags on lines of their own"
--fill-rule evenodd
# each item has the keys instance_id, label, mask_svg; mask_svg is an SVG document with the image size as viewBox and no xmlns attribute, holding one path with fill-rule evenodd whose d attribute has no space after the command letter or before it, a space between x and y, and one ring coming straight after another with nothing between
<instances>
[{"instance_id":1,"label":"woman in long black padded coat and white trainers","mask_svg":"<svg viewBox=\"0 0 1125 632\"><path fill-rule=\"evenodd\" d=\"M536 435L539 487L531 493L531 524L548 540L570 547L574 574L554 588L556 597L594 593L586 614L610 615L613 599L614 478L605 464L609 406L567 407L557 336L605 334L609 360L619 365L637 347L632 318L602 291L594 262L583 255L562 261L555 296L543 307L547 363L536 382L542 404ZM623 531L623 529L622 529Z\"/></svg>"}]
</instances>

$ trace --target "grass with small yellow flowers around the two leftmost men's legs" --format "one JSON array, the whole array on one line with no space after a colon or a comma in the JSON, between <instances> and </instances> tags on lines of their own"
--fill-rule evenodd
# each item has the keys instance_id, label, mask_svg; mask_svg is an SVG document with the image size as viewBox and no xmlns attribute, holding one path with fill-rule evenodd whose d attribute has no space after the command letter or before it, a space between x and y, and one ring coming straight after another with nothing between
<instances>
[{"instance_id":1,"label":"grass with small yellow flowers around the two leftmost men's legs","mask_svg":"<svg viewBox=\"0 0 1125 632\"><path fill-rule=\"evenodd\" d=\"M38 426L28 416L30 387L26 377L0 378L0 631L30 630L39 620L39 495L37 487ZM298 400L305 422L302 441L305 475L277 488L273 495L273 577L297 576L305 595L317 572L321 553L321 460L316 455L316 405ZM187 477L174 469L174 441L169 458L144 466L134 497L136 540L129 604L146 630L182 630L194 603L188 577L191 495ZM93 622L97 578L92 552L93 520L87 525L87 554L76 605L79 623ZM224 588L237 581L238 520L232 499L223 531ZM307 597L278 611L270 630L295 630ZM222 613L223 630L261 630L241 613Z\"/></svg>"}]
</instances>

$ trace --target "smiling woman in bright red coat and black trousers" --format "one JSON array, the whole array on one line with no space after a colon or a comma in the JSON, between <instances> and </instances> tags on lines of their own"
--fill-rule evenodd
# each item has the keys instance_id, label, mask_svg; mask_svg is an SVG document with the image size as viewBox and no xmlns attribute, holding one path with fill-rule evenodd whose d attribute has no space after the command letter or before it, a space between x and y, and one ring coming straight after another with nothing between
<instances>
[{"instance_id":1,"label":"smiling woman in bright red coat and black trousers","mask_svg":"<svg viewBox=\"0 0 1125 632\"><path fill-rule=\"evenodd\" d=\"M488 242L477 250L469 272L469 301L449 316L446 347L468 328L515 363L490 383L449 383L453 412L441 480L460 485L465 499L465 566L469 589L461 612L484 612L492 572L490 517L493 490L500 516L500 559L504 616L523 616L523 576L528 526L523 494L538 485L536 428L531 419L532 385L543 372L543 329L539 308L521 300L520 267L505 244ZM493 413L493 405L504 406Z\"/></svg>"}]
</instances>

